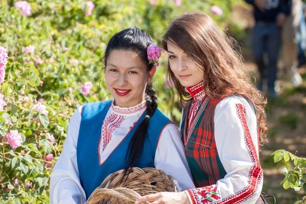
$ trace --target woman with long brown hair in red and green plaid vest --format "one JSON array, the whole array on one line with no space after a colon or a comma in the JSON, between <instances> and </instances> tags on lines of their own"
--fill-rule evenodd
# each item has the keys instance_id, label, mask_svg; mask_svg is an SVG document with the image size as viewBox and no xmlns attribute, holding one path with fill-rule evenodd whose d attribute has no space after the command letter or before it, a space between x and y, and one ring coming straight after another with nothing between
<instances>
[{"instance_id":1,"label":"woman with long brown hair in red and green plaid vest","mask_svg":"<svg viewBox=\"0 0 306 204\"><path fill-rule=\"evenodd\" d=\"M181 134L196 188L136 203L261 203L266 99L243 71L242 57L200 12L174 19L162 44L170 87L183 106Z\"/></svg>"}]
</instances>

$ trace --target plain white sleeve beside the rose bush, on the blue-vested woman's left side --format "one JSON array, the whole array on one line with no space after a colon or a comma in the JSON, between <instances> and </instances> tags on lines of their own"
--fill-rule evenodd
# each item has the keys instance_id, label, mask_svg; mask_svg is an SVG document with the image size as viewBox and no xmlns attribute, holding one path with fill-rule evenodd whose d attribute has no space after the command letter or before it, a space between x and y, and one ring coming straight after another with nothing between
<instances>
[{"instance_id":1,"label":"plain white sleeve beside the rose bush, on the blue-vested woman's left side","mask_svg":"<svg viewBox=\"0 0 306 204\"><path fill-rule=\"evenodd\" d=\"M86 202L77 164L77 143L81 122L82 107L70 119L68 133L61 155L50 177L50 204Z\"/></svg>"}]
</instances>

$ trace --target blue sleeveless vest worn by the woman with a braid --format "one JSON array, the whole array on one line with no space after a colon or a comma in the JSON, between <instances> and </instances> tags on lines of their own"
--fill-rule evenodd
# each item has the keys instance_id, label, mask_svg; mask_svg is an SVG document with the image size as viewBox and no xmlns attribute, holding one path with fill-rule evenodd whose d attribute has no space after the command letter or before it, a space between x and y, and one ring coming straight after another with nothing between
<instances>
[{"instance_id":1,"label":"blue sleeveless vest worn by the woman with a braid","mask_svg":"<svg viewBox=\"0 0 306 204\"><path fill-rule=\"evenodd\" d=\"M145 117L142 114L134 128L125 136L122 142L113 150L110 156L102 165L99 165L98 143L101 135L101 128L106 114L110 108L111 100L89 103L84 105L80 124L77 163L80 181L86 193L86 199L101 185L104 179L111 173L125 169L125 155L130 140L136 128ZM154 159L160 134L169 120L158 109L149 120L148 134L145 138L144 148L136 167L155 167Z\"/></svg>"}]
</instances>

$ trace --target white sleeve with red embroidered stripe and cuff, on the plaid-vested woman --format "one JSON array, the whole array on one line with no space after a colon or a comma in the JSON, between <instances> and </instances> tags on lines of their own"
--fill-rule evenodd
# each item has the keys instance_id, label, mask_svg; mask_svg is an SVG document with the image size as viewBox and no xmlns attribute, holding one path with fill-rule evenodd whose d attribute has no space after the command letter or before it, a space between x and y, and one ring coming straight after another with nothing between
<instances>
[{"instance_id":1,"label":"white sleeve with red embroidered stripe and cuff, on the plaid-vested woman","mask_svg":"<svg viewBox=\"0 0 306 204\"><path fill-rule=\"evenodd\" d=\"M214 131L226 175L216 185L185 191L191 203L256 203L263 171L253 105L242 96L224 98L215 110Z\"/></svg>"}]
</instances>

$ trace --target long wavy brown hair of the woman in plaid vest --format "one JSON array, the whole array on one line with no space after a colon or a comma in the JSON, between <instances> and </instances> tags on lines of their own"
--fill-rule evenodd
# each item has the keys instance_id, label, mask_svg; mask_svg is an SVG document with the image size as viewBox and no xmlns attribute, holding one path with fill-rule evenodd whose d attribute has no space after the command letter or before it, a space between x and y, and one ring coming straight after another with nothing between
<instances>
[{"instance_id":1,"label":"long wavy brown hair of the woman in plaid vest","mask_svg":"<svg viewBox=\"0 0 306 204\"><path fill-rule=\"evenodd\" d=\"M226 36L209 15L187 13L174 19L162 39L165 50L168 50L167 43L182 49L204 71L204 89L209 97L239 94L249 98L257 111L259 143L268 142L267 100L243 71L245 63L234 49L235 41ZM172 92L177 92L180 104L184 106L191 96L175 78L169 64L167 79Z\"/></svg>"}]
</instances>

